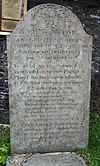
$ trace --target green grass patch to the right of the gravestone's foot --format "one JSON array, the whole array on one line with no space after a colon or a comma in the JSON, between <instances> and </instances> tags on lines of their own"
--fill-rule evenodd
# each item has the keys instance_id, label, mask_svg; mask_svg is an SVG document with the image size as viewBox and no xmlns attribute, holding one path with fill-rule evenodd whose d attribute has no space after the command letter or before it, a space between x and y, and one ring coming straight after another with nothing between
<instances>
[{"instance_id":1,"label":"green grass patch to the right of the gravestone's foot","mask_svg":"<svg viewBox=\"0 0 100 166\"><path fill-rule=\"evenodd\" d=\"M89 166L100 166L100 112L95 110L90 114L89 146L87 150L78 149Z\"/></svg>"}]
</instances>

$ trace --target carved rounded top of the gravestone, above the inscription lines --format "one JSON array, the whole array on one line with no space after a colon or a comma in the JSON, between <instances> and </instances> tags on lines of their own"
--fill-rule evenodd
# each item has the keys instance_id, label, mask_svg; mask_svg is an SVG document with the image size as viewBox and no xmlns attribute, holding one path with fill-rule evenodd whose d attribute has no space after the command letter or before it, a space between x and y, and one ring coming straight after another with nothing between
<instances>
[{"instance_id":1,"label":"carved rounded top of the gravestone, above the inscription lines","mask_svg":"<svg viewBox=\"0 0 100 166\"><path fill-rule=\"evenodd\" d=\"M57 4L42 4L29 10L17 24L12 34L32 35L33 30L61 32L67 35L88 35L78 17L68 8ZM30 33L31 32L31 33ZM89 35L88 35L89 36Z\"/></svg>"}]
</instances>

